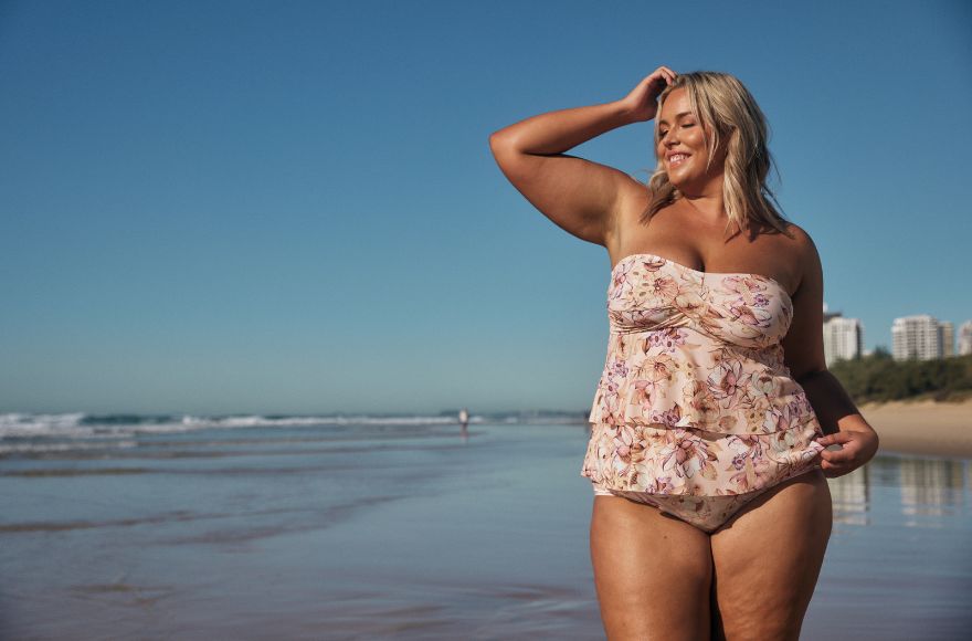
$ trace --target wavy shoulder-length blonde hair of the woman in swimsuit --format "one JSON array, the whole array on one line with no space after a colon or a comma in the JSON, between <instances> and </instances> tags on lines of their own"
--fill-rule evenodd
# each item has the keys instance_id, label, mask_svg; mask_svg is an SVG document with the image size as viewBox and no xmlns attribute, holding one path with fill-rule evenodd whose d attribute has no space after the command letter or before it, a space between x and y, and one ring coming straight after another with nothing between
<instances>
[{"instance_id":1,"label":"wavy shoulder-length blonde hair of the woman in swimsuit","mask_svg":"<svg viewBox=\"0 0 972 641\"><path fill-rule=\"evenodd\" d=\"M792 238L786 230L788 221L780 213L782 208L767 186L767 176L771 167L775 169L775 162L767 146L767 118L749 90L727 73L696 71L679 74L658 96L658 115L665 98L677 88L685 88L693 113L705 125L708 161L711 162L720 145L726 145L722 179L722 198L729 217L726 229L735 222L740 231L752 230L756 223L757 227L770 225ZM658 119L655 118L656 150L658 143ZM662 158L648 179L648 190L652 198L642 213L643 224L683 196L668 181Z\"/></svg>"}]
</instances>

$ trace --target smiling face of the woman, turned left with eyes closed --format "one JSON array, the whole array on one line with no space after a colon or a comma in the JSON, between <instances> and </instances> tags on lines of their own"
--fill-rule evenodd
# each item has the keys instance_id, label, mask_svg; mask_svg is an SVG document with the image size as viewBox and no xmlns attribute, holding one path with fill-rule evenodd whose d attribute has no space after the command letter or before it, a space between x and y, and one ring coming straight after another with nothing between
<instances>
[{"instance_id":1,"label":"smiling face of the woman, turned left with eyes closed","mask_svg":"<svg viewBox=\"0 0 972 641\"><path fill-rule=\"evenodd\" d=\"M706 162L706 134L702 123L691 113L688 92L679 87L665 98L658 113L658 147L655 154L668 172L668 180L683 193L705 193L721 188L725 154Z\"/></svg>"}]
</instances>

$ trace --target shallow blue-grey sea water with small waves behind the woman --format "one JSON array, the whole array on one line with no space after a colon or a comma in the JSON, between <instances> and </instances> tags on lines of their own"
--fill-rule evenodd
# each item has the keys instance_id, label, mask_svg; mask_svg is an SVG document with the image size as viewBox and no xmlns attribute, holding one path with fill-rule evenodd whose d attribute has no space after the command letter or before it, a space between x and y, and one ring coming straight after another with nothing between
<instances>
[{"instance_id":1,"label":"shallow blue-grey sea water with small waves behind the woman","mask_svg":"<svg viewBox=\"0 0 972 641\"><path fill-rule=\"evenodd\" d=\"M604 639L585 423L0 417L0 639ZM802 639L960 639L972 463L830 480Z\"/></svg>"}]
</instances>

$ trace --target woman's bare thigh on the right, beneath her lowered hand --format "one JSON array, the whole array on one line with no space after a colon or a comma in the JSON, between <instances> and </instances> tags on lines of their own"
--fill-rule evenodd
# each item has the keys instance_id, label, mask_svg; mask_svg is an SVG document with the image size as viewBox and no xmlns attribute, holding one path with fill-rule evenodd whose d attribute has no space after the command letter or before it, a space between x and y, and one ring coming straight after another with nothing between
<instances>
[{"instance_id":1,"label":"woman's bare thigh on the right, beneath her lowered hand","mask_svg":"<svg viewBox=\"0 0 972 641\"><path fill-rule=\"evenodd\" d=\"M831 536L827 481L813 470L772 487L711 536L721 630L797 639Z\"/></svg>"}]
</instances>

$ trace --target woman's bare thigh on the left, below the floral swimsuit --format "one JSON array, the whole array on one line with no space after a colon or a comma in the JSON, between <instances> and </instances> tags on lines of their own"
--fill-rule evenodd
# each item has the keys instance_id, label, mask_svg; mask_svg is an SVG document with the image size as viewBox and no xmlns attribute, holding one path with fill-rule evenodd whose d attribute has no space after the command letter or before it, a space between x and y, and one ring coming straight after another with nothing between
<instances>
[{"instance_id":1,"label":"woman's bare thigh on the left, below the floral swimsuit","mask_svg":"<svg viewBox=\"0 0 972 641\"><path fill-rule=\"evenodd\" d=\"M595 496L591 560L610 641L708 639L706 533L649 505Z\"/></svg>"}]
</instances>

